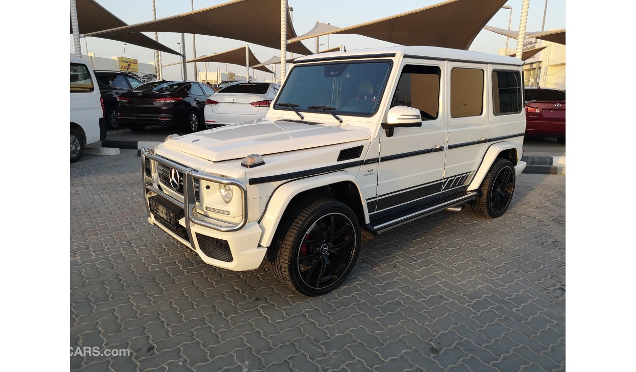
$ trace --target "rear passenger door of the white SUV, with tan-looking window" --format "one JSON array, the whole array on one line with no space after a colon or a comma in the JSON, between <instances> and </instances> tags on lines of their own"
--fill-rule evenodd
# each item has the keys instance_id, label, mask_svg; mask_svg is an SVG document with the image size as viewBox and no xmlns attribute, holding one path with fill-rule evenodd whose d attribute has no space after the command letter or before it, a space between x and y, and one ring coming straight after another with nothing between
<instances>
[{"instance_id":1,"label":"rear passenger door of the white SUV, with tan-looking window","mask_svg":"<svg viewBox=\"0 0 636 372\"><path fill-rule=\"evenodd\" d=\"M448 141L442 191L465 187L488 148L487 65L448 62L447 71Z\"/></svg>"}]
</instances>

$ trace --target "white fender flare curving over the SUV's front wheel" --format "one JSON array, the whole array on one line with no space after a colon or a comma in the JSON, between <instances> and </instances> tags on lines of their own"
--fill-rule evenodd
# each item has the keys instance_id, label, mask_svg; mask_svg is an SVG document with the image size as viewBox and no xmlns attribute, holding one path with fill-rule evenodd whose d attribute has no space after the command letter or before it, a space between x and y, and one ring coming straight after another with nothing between
<instances>
[{"instance_id":1,"label":"white fender flare curving over the SUV's front wheel","mask_svg":"<svg viewBox=\"0 0 636 372\"><path fill-rule=\"evenodd\" d=\"M265 213L263 213L263 217L261 217L261 220L258 223L263 230L259 245L262 247L269 247L272 244L280 219L294 196L298 195L302 191L307 191L308 189L328 186L329 184L343 181L349 181L356 185L358 195L360 196L360 202L363 207L364 223L369 223L369 211L366 207L366 202L364 202L364 199L362 198L360 186L357 184L356 177L343 171L321 174L319 176L296 179L294 181L284 183L274 190L267 203Z\"/></svg>"}]
</instances>

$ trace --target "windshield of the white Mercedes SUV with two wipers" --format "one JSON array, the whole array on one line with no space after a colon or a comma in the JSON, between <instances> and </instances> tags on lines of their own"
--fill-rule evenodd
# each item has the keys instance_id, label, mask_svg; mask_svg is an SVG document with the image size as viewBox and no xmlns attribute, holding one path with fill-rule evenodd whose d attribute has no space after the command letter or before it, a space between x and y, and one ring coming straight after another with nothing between
<instances>
[{"instance_id":1,"label":"windshield of the white Mercedes SUV with two wipers","mask_svg":"<svg viewBox=\"0 0 636 372\"><path fill-rule=\"evenodd\" d=\"M298 111L325 113L316 107L326 106L333 114L373 116L389 71L391 61L298 65L289 72L276 104L298 105L294 106ZM291 110L289 106L275 107Z\"/></svg>"}]
</instances>

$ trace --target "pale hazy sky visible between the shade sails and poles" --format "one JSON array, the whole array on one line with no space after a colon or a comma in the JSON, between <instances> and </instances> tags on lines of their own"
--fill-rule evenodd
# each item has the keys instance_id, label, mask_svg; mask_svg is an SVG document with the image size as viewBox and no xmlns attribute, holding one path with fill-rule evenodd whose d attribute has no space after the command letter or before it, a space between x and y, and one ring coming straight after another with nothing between
<instances>
[{"instance_id":1,"label":"pale hazy sky visible between the shade sails and poles","mask_svg":"<svg viewBox=\"0 0 636 372\"><path fill-rule=\"evenodd\" d=\"M152 0L96 1L127 24L137 24L152 20ZM546 0L530 1L527 31L541 31L545 1ZM294 8L293 24L296 34L298 35L310 31L310 29L314 27L316 21L330 23L338 27L346 27L368 22L370 20L376 20L378 18L389 17L391 15L403 13L404 11L423 8L440 2L441 0L399 0L392 1L391 3L387 3L385 0L288 0L289 6ZM223 3L226 3L226 1L194 0L194 8L197 10ZM391 6L387 6L387 4L391 4ZM509 0L506 5L512 6L513 8L511 29L518 30L522 0ZM191 1L188 0L156 0L157 18L186 13L191 11L191 9ZM490 22L488 22L488 25L499 27L501 29L508 29L509 15L510 10L499 10ZM240 16L237 18L237 25L240 25ZM546 31L550 29L563 28L565 28L565 0L548 0L548 11L546 13L545 25ZM152 32L144 32L144 34L148 35L150 38L154 37ZM169 48L179 50L180 47L177 43L181 41L181 34L159 32L158 40L160 43L168 46ZM225 52L245 45L244 41L216 38L214 36L197 35L196 40L198 56L210 55L213 52ZM304 43L309 50L314 50L314 39L308 39L302 43ZM358 35L333 35L329 37L329 40L326 36L323 36L320 39L320 43L325 44L324 46L321 46L321 49L326 49L329 44L331 47L344 45L347 50L395 45L385 41ZM515 39L510 39L509 48L513 48L515 43ZM499 52L499 48L504 48L505 45L506 38L504 36L487 30L482 30L473 41L473 45L471 45L470 50L497 54ZM123 57L123 43L119 41L100 38L82 38L81 48L83 54L86 54L86 47L88 47L88 52L95 53L95 56L97 57ZM265 46L250 44L250 48L256 55L256 58L258 58L261 62L268 60L275 55L280 55L278 50L267 48ZM73 36L69 36L69 52L74 52ZM155 60L153 50L130 44L126 46L126 56L134 57L141 63L149 63ZM191 59L193 57L191 34L186 34L186 57L187 59ZM163 65L179 61L180 57L178 55L162 53ZM208 66L208 71L216 71L216 64L210 63ZM204 71L205 67L203 64L199 64L198 68L201 71ZM219 66L219 68L221 71L225 71L225 65ZM243 69L240 70L238 65L230 65L229 69L230 72L245 72L245 68L243 67ZM188 78L193 78L193 71L193 64L188 64ZM180 65L164 67L163 76L165 79L180 79ZM271 74L269 76L271 76ZM256 72L257 79L264 77L264 72Z\"/></svg>"}]
</instances>

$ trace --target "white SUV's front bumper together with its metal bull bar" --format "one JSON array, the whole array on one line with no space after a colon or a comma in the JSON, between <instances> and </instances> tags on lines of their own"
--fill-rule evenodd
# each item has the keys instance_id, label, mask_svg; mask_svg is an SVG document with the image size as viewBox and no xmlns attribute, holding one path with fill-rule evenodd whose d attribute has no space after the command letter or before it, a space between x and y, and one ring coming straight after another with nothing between
<instances>
[{"instance_id":1,"label":"white SUV's front bumper together with its metal bull bar","mask_svg":"<svg viewBox=\"0 0 636 372\"><path fill-rule=\"evenodd\" d=\"M161 228L181 244L197 252L203 261L209 265L226 268L229 270L243 271L254 270L261 265L265 258L266 247L260 247L258 242L262 230L257 222L247 223L247 192L245 185L235 179L225 179L196 172L193 169L170 162L165 158L156 156L151 150L143 148L142 155L142 181L144 185L144 200L148 210L148 222ZM148 162L147 162L148 160ZM150 161L152 160L152 162ZM183 172L184 196L183 202L163 193L158 184L154 183L155 162L161 162ZM148 164L150 175L147 174ZM243 202L242 219L238 224L219 224L197 212L195 200L194 179L220 184L237 186L241 191ZM151 212L149 198L158 195L177 208L183 209L184 216L178 220L179 228L175 229L161 217Z\"/></svg>"}]
</instances>

